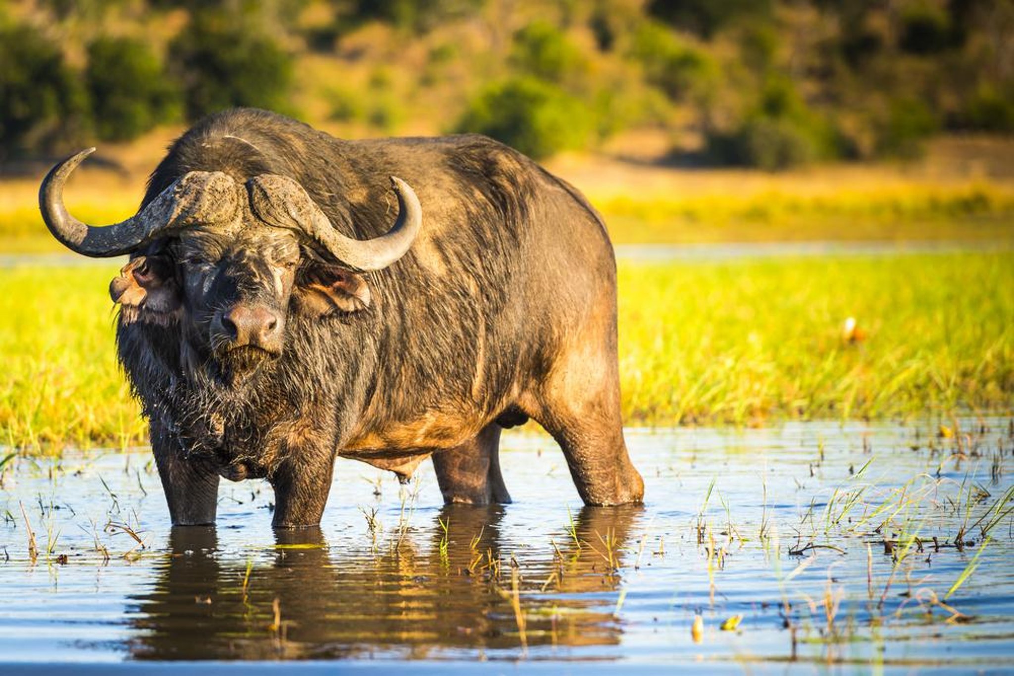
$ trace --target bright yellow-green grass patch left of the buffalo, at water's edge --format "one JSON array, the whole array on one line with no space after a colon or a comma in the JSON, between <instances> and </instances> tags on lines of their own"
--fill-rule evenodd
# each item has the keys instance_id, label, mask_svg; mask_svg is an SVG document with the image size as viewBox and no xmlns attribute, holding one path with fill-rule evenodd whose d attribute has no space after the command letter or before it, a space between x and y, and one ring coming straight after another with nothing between
<instances>
[{"instance_id":1,"label":"bright yellow-green grass patch left of the buffalo, at water's edge","mask_svg":"<svg viewBox=\"0 0 1014 676\"><path fill-rule=\"evenodd\" d=\"M116 266L0 271L0 444L143 440L121 376L105 287Z\"/></svg>"}]
</instances>

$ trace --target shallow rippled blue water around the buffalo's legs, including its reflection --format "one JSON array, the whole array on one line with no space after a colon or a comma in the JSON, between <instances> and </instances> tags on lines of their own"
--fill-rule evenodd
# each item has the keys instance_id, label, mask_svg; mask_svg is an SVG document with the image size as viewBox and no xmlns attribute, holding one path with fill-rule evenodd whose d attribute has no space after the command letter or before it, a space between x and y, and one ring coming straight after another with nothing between
<instances>
[{"instance_id":1,"label":"shallow rippled blue water around the buffalo's legs, including its reflection","mask_svg":"<svg viewBox=\"0 0 1014 676\"><path fill-rule=\"evenodd\" d=\"M223 482L217 528L172 530L145 451L21 458L0 494L0 671L1009 670L1012 425L629 430L647 502L612 509L581 506L551 440L505 434L512 505L443 507L428 463L403 487L339 461L320 530L292 533L260 481Z\"/></svg>"}]
</instances>

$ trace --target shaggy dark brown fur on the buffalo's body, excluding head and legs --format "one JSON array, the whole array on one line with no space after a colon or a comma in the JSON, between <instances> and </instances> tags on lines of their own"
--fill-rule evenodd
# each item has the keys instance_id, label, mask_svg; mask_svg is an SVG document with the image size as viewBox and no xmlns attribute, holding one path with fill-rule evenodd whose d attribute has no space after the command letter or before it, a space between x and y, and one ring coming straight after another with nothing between
<instances>
[{"instance_id":1,"label":"shaggy dark brown fur on the buffalo's body, excluding head and legs","mask_svg":"<svg viewBox=\"0 0 1014 676\"><path fill-rule=\"evenodd\" d=\"M587 203L485 137L340 141L270 112L231 110L171 146L144 203L193 170L223 171L240 183L261 173L292 177L335 227L360 239L393 222L388 176L396 175L419 195L423 231L439 233L428 242L429 265L414 247L365 275L369 307L317 319L290 311L282 356L235 387L186 340L188 308L169 329L120 323L120 360L151 421L156 456L189 457L229 478L272 477L302 462L294 454L332 458L356 430L427 411L464 416L477 430L495 420L524 422L528 411L513 395L544 378L569 340L560 317L582 311L562 280L614 285L611 247ZM584 247L577 261L576 247ZM157 250L171 252L171 242L146 249ZM306 251L304 260L318 253ZM285 441L298 421L309 421L315 448Z\"/></svg>"}]
</instances>

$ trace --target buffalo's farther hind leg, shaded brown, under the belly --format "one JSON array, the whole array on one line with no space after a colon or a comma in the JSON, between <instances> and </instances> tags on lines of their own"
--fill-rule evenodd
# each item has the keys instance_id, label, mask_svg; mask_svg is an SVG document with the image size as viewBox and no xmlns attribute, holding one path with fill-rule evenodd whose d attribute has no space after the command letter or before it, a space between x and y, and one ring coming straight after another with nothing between
<instances>
[{"instance_id":1,"label":"buffalo's farther hind leg, shaded brown, under the belly","mask_svg":"<svg viewBox=\"0 0 1014 676\"><path fill-rule=\"evenodd\" d=\"M433 454L433 468L444 503L509 503L500 473L500 426L490 423L460 446Z\"/></svg>"}]
</instances>

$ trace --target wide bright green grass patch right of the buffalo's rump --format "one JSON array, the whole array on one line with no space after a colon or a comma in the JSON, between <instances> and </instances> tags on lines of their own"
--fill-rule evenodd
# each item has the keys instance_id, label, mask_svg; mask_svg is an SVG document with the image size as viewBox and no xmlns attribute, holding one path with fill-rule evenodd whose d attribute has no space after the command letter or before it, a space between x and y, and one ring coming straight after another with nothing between
<instances>
[{"instance_id":1,"label":"wide bright green grass patch right of the buffalo's rump","mask_svg":"<svg viewBox=\"0 0 1014 676\"><path fill-rule=\"evenodd\" d=\"M629 422L1007 412L1014 254L621 267ZM849 344L855 317L866 340Z\"/></svg>"}]
</instances>

